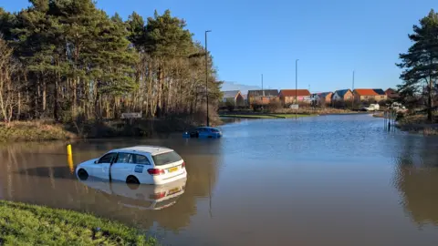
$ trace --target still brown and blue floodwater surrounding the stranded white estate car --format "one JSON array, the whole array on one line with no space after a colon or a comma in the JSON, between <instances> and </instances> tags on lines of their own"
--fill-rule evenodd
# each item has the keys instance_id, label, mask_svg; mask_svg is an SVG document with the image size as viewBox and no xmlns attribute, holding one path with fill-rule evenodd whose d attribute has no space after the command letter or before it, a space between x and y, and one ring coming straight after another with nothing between
<instances>
[{"instance_id":1,"label":"still brown and blue floodwater surrounding the stranded white estate car","mask_svg":"<svg viewBox=\"0 0 438 246\"><path fill-rule=\"evenodd\" d=\"M120 220L163 245L438 245L438 138L369 115L242 120L221 139L105 139L0 147L0 198ZM108 149L175 149L165 187L78 180ZM162 191L169 197L156 197ZM172 192L171 192L172 191Z\"/></svg>"}]
</instances>

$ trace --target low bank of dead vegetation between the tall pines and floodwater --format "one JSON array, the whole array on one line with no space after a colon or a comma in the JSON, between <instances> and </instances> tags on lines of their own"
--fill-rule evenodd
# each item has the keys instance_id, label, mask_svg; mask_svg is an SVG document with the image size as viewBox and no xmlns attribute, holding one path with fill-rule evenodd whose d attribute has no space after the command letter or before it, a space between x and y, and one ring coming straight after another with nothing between
<instances>
[{"instance_id":1,"label":"low bank of dead vegetation between the tall pines and floodwater","mask_svg":"<svg viewBox=\"0 0 438 246\"><path fill-rule=\"evenodd\" d=\"M53 120L13 121L0 123L0 142L48 141L74 138L146 137L183 131L204 125L203 114L172 116L167 118L140 118L132 120L103 119L74 121L58 124ZM220 125L222 121L212 115L210 124Z\"/></svg>"}]
</instances>

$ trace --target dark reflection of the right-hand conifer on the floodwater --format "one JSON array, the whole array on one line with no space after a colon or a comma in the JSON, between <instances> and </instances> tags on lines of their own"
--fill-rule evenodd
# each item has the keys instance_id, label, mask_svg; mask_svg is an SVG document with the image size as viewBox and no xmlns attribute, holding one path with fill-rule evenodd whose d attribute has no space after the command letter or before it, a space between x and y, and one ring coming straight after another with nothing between
<instances>
[{"instance_id":1,"label":"dark reflection of the right-hand conifer on the floodwater","mask_svg":"<svg viewBox=\"0 0 438 246\"><path fill-rule=\"evenodd\" d=\"M418 226L438 225L438 139L405 138L397 158L394 185L401 204Z\"/></svg>"}]
</instances>

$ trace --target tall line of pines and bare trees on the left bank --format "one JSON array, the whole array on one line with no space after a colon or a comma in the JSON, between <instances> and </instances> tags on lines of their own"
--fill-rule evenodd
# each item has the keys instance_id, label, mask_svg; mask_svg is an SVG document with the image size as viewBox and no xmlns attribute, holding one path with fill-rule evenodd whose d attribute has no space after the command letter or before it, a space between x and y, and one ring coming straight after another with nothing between
<instances>
[{"instance_id":1,"label":"tall line of pines and bare trees on the left bank","mask_svg":"<svg viewBox=\"0 0 438 246\"><path fill-rule=\"evenodd\" d=\"M169 10L107 15L92 0L0 8L0 118L58 122L205 114L205 49ZM208 54L208 95L221 82ZM213 111L214 110L210 110Z\"/></svg>"}]
</instances>

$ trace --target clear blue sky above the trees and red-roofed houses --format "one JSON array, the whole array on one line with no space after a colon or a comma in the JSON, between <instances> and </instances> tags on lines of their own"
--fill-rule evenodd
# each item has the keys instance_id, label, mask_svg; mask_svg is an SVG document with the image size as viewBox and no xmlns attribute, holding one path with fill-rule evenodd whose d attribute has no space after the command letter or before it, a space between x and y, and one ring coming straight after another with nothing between
<instances>
[{"instance_id":1,"label":"clear blue sky above the trees and red-roofed houses","mask_svg":"<svg viewBox=\"0 0 438 246\"><path fill-rule=\"evenodd\" d=\"M27 0L0 0L18 11ZM99 0L109 15L124 19L155 9L187 21L194 38L208 46L219 78L249 86L295 88L320 92L351 87L394 87L400 83L398 54L411 45L407 35L431 8L432 0Z\"/></svg>"}]
</instances>

